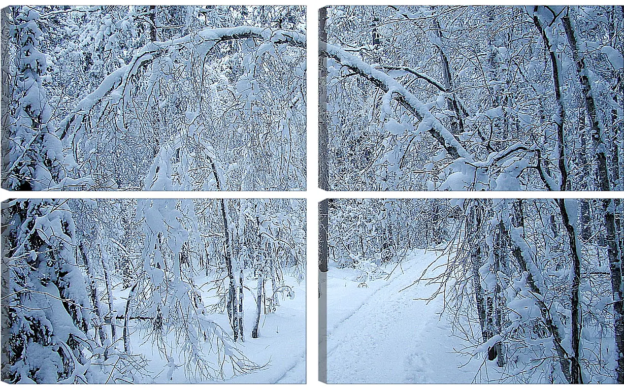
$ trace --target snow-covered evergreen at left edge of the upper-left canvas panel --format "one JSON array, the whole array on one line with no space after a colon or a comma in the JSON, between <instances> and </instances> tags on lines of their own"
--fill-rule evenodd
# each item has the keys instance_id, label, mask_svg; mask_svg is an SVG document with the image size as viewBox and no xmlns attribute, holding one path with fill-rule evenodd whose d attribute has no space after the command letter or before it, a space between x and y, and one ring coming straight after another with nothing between
<instances>
[{"instance_id":1,"label":"snow-covered evergreen at left edge of the upper-left canvas panel","mask_svg":"<svg viewBox=\"0 0 624 390\"><path fill-rule=\"evenodd\" d=\"M40 17L29 6L2 9L3 68L12 69L2 71L2 183L9 190L52 188L64 178L62 145L48 125Z\"/></svg>"}]
</instances>

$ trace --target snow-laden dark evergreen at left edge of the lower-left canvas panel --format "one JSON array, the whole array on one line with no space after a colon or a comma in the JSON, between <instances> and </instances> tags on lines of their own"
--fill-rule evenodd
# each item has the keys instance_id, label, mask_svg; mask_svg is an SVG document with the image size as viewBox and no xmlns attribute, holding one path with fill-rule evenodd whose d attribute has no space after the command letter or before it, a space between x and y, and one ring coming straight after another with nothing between
<instances>
[{"instance_id":1,"label":"snow-laden dark evergreen at left edge of the lower-left canvas panel","mask_svg":"<svg viewBox=\"0 0 624 390\"><path fill-rule=\"evenodd\" d=\"M74 258L75 227L66 203L11 200L3 204L4 381L89 381L92 313Z\"/></svg>"}]
</instances>

